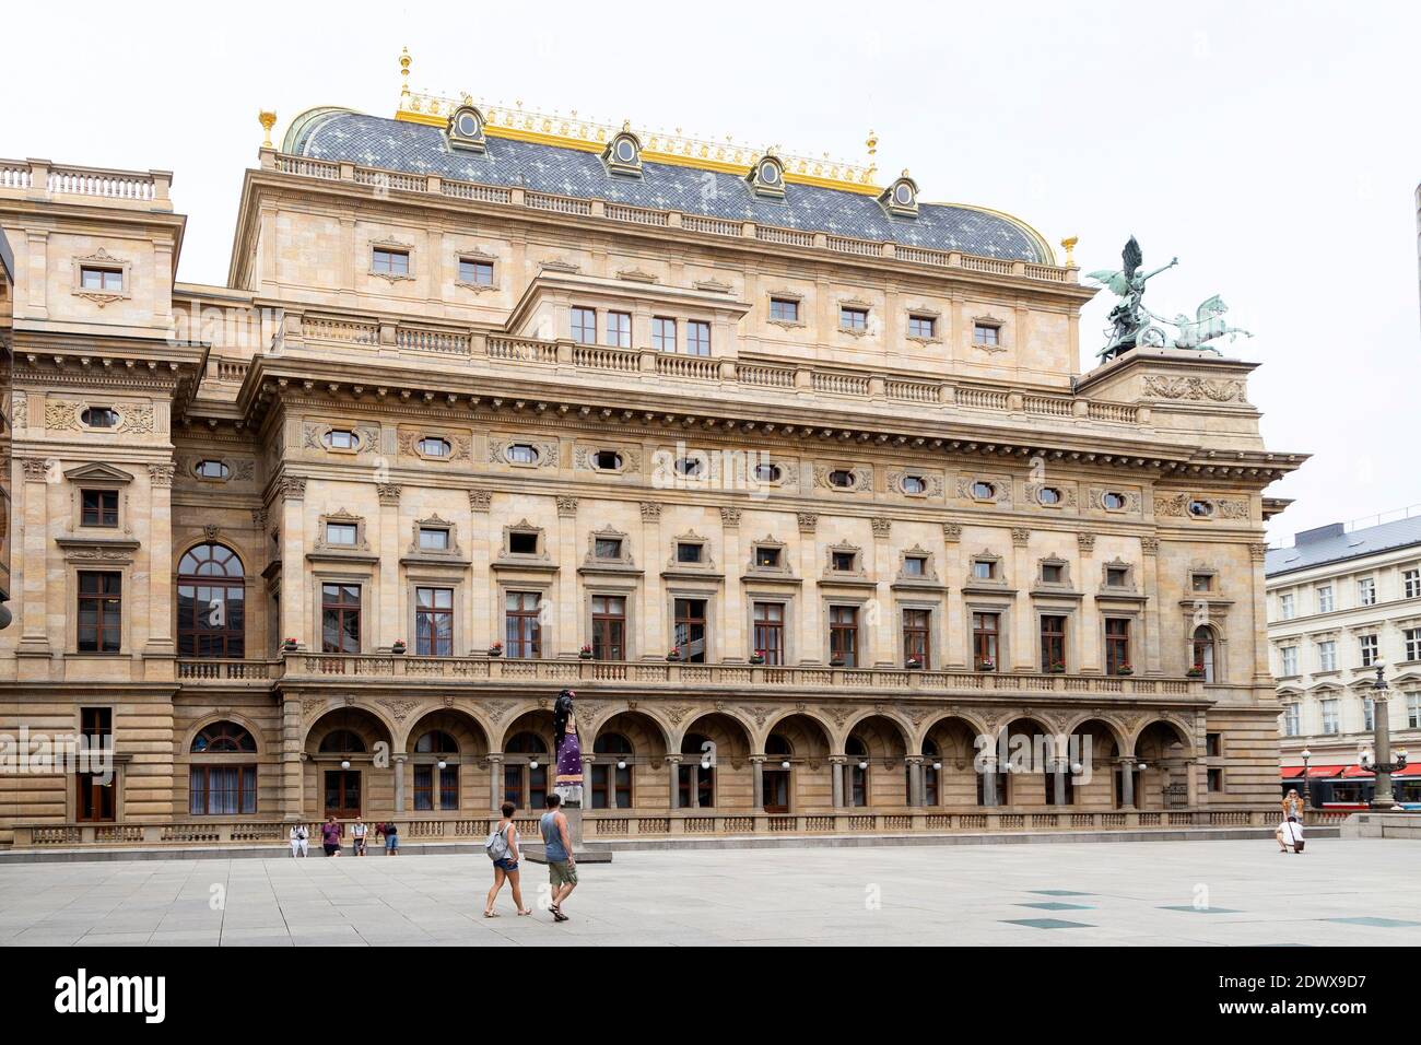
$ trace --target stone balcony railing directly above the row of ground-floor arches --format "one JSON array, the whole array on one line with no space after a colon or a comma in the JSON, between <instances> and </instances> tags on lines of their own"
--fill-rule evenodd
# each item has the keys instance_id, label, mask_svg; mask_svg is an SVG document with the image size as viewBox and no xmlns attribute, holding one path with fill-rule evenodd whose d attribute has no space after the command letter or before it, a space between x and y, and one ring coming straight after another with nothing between
<instances>
[{"instance_id":1,"label":"stone balcony railing directly above the row of ground-floor arches","mask_svg":"<svg viewBox=\"0 0 1421 1045\"><path fill-rule=\"evenodd\" d=\"M1189 698L1204 695L1196 678L1042 674L1013 671L941 671L921 668L836 668L816 665L685 664L678 661L524 660L517 657L414 657L409 654L287 653L277 661L179 660L178 678L190 684L229 684L276 678L399 678L415 682L497 682L583 687L725 687L821 690L838 692L1061 694L1083 697Z\"/></svg>"}]
</instances>

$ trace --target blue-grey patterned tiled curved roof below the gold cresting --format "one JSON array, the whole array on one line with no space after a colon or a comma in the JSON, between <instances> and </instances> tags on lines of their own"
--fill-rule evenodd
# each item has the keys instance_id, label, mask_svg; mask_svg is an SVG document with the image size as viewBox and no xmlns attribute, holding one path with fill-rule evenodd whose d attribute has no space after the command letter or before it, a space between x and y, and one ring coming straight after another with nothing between
<instances>
[{"instance_id":1,"label":"blue-grey patterned tiled curved roof below the gold cresting","mask_svg":"<svg viewBox=\"0 0 1421 1045\"><path fill-rule=\"evenodd\" d=\"M593 152L490 135L487 152L479 155L450 149L438 127L348 109L298 117L287 136L286 151L313 159L347 161L482 185L520 186L833 236L1020 262L1053 260L1022 225L1003 215L966 206L919 203L917 218L890 218L874 196L816 185L790 183L784 199L773 200L756 196L733 173L672 164L645 162L641 178L612 176Z\"/></svg>"}]
</instances>

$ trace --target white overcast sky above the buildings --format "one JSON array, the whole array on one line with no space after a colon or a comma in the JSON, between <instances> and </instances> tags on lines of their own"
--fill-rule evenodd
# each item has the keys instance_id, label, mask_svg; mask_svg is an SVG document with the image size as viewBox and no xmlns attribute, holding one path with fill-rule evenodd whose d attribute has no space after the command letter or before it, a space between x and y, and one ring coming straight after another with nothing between
<instances>
[{"instance_id":1,"label":"white overcast sky above the buildings","mask_svg":"<svg viewBox=\"0 0 1421 1045\"><path fill-rule=\"evenodd\" d=\"M1364 10L1370 7L1371 10ZM1314 458L1270 536L1421 502L1414 191L1421 6L1340 3L10 4L0 155L175 172L179 277L223 283L259 107L277 134L414 87L912 171L1084 270L1179 256L1147 301L1223 294L1258 334L1272 449ZM91 100L98 98L98 104ZM280 141L280 139L277 139ZM1108 291L1087 309L1093 361Z\"/></svg>"}]
</instances>

